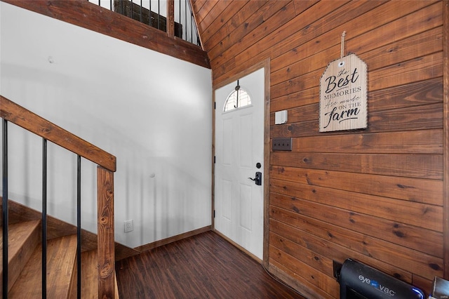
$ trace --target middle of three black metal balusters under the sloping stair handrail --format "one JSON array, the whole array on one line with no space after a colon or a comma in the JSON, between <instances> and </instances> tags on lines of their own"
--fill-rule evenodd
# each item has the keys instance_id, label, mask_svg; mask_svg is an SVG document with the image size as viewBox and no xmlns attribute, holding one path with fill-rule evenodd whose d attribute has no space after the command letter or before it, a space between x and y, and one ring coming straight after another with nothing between
<instances>
[{"instance_id":1,"label":"middle of three black metal balusters under the sloping stair handrail","mask_svg":"<svg viewBox=\"0 0 449 299\"><path fill-rule=\"evenodd\" d=\"M42 142L42 298L47 298L47 140Z\"/></svg>"}]
</instances>

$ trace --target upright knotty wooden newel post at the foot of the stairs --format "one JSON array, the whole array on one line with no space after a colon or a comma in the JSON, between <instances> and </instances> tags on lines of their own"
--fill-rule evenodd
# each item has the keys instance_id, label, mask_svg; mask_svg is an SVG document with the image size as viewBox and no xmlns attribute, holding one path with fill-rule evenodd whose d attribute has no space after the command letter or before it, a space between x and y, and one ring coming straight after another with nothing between
<instances>
[{"instance_id":1,"label":"upright knotty wooden newel post at the foot of the stairs","mask_svg":"<svg viewBox=\"0 0 449 299\"><path fill-rule=\"evenodd\" d=\"M115 293L114 173L97 168L98 298L119 298Z\"/></svg>"}]
</instances>

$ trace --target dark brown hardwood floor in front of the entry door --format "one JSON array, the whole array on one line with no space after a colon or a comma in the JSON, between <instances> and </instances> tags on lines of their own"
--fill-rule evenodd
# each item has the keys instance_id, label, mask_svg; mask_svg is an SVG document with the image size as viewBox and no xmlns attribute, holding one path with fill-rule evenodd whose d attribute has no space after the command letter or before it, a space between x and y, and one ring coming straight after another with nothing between
<instances>
[{"instance_id":1,"label":"dark brown hardwood floor in front of the entry door","mask_svg":"<svg viewBox=\"0 0 449 299\"><path fill-rule=\"evenodd\" d=\"M116 274L126 299L304 298L214 232L120 260Z\"/></svg>"}]
</instances>

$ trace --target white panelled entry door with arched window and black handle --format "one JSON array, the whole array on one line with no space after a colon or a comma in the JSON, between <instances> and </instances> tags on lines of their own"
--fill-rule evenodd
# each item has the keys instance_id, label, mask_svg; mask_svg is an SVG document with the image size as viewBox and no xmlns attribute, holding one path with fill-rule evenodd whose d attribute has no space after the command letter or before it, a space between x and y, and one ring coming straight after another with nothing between
<instances>
[{"instance_id":1,"label":"white panelled entry door with arched window and black handle","mask_svg":"<svg viewBox=\"0 0 449 299\"><path fill-rule=\"evenodd\" d=\"M264 69L239 79L240 88L250 96L250 105L237 105L225 111L226 100L236 90L236 85L237 80L215 90L214 226L262 260ZM260 172L262 185L250 180L257 172Z\"/></svg>"}]
</instances>

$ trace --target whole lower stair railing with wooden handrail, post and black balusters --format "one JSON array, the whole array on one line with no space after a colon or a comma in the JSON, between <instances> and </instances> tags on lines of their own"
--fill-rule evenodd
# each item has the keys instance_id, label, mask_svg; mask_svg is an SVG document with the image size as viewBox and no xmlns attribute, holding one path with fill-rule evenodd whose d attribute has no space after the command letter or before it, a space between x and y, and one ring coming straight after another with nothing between
<instances>
[{"instance_id":1,"label":"whole lower stair railing with wooden handrail, post and black balusters","mask_svg":"<svg viewBox=\"0 0 449 299\"><path fill-rule=\"evenodd\" d=\"M78 156L77 182L77 225L78 225L78 298L81 298L81 209L80 173L81 157L97 164L97 206L98 206L98 298L119 298L115 288L115 248L114 248L114 172L116 157L99 147L82 140L17 105L0 95L0 117L3 119L3 298L8 298L8 121L43 138L43 164L46 164L46 142L51 141ZM46 168L43 166L43 201L46 198ZM46 207L43 204L43 238L46 235ZM44 231L45 230L45 231ZM46 240L43 240L46 242ZM44 244L43 244L44 245ZM44 251L44 250L43 250ZM43 253L43 258L46 258ZM46 298L45 264L43 261L42 298Z\"/></svg>"}]
</instances>

